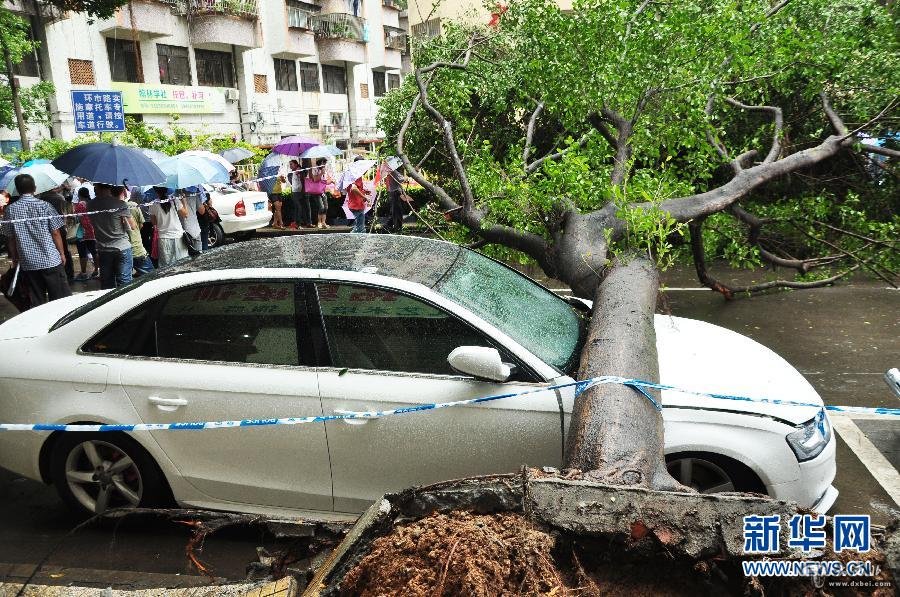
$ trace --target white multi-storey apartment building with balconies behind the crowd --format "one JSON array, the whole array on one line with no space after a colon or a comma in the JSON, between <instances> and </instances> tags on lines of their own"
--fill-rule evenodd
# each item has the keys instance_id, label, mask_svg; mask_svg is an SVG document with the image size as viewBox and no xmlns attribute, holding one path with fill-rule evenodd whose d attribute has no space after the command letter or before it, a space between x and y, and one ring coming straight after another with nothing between
<instances>
[{"instance_id":1,"label":"white multi-storey apartment building with balconies behind the crowd","mask_svg":"<svg viewBox=\"0 0 900 597\"><path fill-rule=\"evenodd\" d=\"M380 142L376 100L400 85L408 18L398 0L132 0L109 19L0 0L41 42L14 69L20 86L52 81L51 126L74 137L70 91L121 91L148 124L267 145L303 134L339 147ZM407 66L408 70L408 66ZM0 150L18 143L0 129Z\"/></svg>"}]
</instances>

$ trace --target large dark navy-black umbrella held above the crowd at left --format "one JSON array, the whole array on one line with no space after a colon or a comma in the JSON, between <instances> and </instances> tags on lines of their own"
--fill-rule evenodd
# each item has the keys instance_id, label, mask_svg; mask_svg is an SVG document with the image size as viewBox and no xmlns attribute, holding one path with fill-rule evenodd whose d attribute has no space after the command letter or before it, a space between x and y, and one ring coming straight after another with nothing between
<instances>
[{"instance_id":1,"label":"large dark navy-black umbrella held above the crowd at left","mask_svg":"<svg viewBox=\"0 0 900 597\"><path fill-rule=\"evenodd\" d=\"M159 166L139 149L117 143L78 145L52 163L72 176L106 184L150 185L166 180Z\"/></svg>"}]
</instances>

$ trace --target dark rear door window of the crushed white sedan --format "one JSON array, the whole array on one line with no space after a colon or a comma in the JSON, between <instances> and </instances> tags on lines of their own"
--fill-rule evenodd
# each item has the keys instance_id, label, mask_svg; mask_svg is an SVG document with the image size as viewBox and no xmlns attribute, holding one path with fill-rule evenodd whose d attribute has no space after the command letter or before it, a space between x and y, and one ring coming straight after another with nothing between
<instances>
[{"instance_id":1,"label":"dark rear door window of the crushed white sedan","mask_svg":"<svg viewBox=\"0 0 900 597\"><path fill-rule=\"evenodd\" d=\"M155 324L167 358L298 365L293 282L195 286L169 295Z\"/></svg>"}]
</instances>

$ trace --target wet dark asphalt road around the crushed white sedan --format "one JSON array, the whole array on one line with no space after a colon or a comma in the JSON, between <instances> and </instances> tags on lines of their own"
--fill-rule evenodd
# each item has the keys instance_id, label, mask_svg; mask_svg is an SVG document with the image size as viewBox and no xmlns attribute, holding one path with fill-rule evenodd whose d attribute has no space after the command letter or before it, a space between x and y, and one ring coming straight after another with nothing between
<instances>
[{"instance_id":1,"label":"wet dark asphalt road around the crushed white sedan","mask_svg":"<svg viewBox=\"0 0 900 597\"><path fill-rule=\"evenodd\" d=\"M806 375L827 403L900 406L881 380L886 369L900 366L900 291L857 281L725 301L710 291L687 289L696 286L690 271L667 273L663 281L670 288L665 296L672 314L715 323L769 346ZM0 300L0 319L14 313ZM900 422L856 423L896 467ZM832 512L870 513L876 522L886 522L897 504L843 440L837 458L835 485L841 495ZM39 568L34 582L40 584L137 588L208 582L184 556L186 528L104 523L67 536L75 524L52 488L0 471L0 581L21 582ZM257 546L273 548L271 537L224 532L207 539L202 557L217 576L237 580L257 559Z\"/></svg>"}]
</instances>

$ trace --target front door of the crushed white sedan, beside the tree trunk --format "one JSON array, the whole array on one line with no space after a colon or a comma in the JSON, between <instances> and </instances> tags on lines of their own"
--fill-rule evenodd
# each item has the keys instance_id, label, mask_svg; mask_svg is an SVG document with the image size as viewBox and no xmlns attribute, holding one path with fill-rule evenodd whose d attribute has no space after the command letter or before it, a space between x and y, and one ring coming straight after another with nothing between
<instances>
[{"instance_id":1,"label":"front door of the crushed white sedan, beside the tree trunk","mask_svg":"<svg viewBox=\"0 0 900 597\"><path fill-rule=\"evenodd\" d=\"M415 297L350 283L316 284L327 367L319 370L326 414L388 410L534 390L520 368L512 381L455 373L458 346L491 346L480 332ZM501 354L503 352L501 351ZM510 357L505 355L504 360ZM387 491L559 463L560 409L553 391L380 419L326 423L335 510L358 512Z\"/></svg>"}]
</instances>

